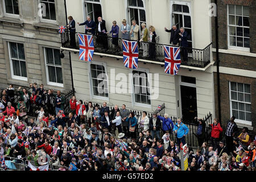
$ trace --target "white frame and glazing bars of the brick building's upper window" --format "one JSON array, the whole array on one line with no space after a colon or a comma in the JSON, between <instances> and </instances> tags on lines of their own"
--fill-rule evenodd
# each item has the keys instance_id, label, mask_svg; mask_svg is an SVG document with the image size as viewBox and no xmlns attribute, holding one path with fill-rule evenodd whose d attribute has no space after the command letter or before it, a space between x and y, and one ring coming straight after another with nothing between
<instances>
[{"instance_id":1,"label":"white frame and glazing bars of the brick building's upper window","mask_svg":"<svg viewBox=\"0 0 256 182\"><path fill-rule=\"evenodd\" d=\"M236 11L236 5L234 5L235 6L235 11ZM248 48L248 47L239 47L239 46L230 46L230 35L229 35L229 27L230 26L233 26L233 27L242 27L242 28L249 28L249 30L250 30L250 27L246 27L246 26L237 26L237 25L229 25L229 5L226 5L226 10L227 10L227 26L228 26L228 49L234 49L234 50L239 50L239 51L246 51L246 52L250 52L250 47ZM236 13L236 12L235 12ZM233 15L233 14L231 14L231 15ZM234 16L236 16L236 14L234 14ZM242 6L242 15L241 15L242 17L243 17L243 6ZM247 16L246 16L247 17ZM249 18L250 18L250 16L249 16ZM243 20L243 18L242 18L242 20ZM237 30L236 30L237 31ZM237 38L237 35L236 36L234 36L234 37L236 37ZM238 37L241 37L241 36L238 36ZM247 38L247 37L245 37L245 36L242 36L242 38ZM250 41L251 41L251 38L249 37L249 39L250 39ZM237 41L236 41L237 42ZM243 44L244 44L244 42L243 42Z\"/></svg>"}]
</instances>

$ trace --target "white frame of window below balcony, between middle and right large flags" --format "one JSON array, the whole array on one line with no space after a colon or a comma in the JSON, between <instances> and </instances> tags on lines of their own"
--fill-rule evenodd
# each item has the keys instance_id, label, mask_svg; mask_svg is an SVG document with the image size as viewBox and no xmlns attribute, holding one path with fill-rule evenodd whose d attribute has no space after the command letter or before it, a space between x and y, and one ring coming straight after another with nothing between
<instances>
[{"instance_id":1,"label":"white frame of window below balcony, between middle and right large flags","mask_svg":"<svg viewBox=\"0 0 256 182\"><path fill-rule=\"evenodd\" d=\"M144 72L147 74L147 81L148 81L148 84L149 84L149 88L150 88L150 104L142 104L142 103L139 103L139 102L135 102L135 91L134 91L134 85L133 85L133 71L138 71L138 72ZM130 83L131 83L131 97L132 97L132 106L135 106L135 107L144 107L144 108L147 108L147 109L151 109L152 107L152 99L151 99L151 85L150 85L150 78L148 77L148 73L149 70L146 69L146 68L138 68L138 69L130 69L130 73L131 73L131 80L130 80Z\"/></svg>"}]
</instances>

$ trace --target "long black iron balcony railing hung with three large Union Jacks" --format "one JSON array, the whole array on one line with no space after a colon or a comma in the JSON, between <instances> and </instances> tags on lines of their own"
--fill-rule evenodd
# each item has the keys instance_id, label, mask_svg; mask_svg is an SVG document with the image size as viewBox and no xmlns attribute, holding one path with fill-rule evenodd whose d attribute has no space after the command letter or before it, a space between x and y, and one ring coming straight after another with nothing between
<instances>
[{"instance_id":1,"label":"long black iron balcony railing hung with three large Union Jacks","mask_svg":"<svg viewBox=\"0 0 256 182\"><path fill-rule=\"evenodd\" d=\"M69 46L69 32L65 31L63 34L61 34L61 43L63 48L70 48ZM77 38L77 32L76 32L76 40ZM104 39L104 41L102 41ZM104 55L114 55L118 58L123 56L122 52L122 39L118 38L113 41L113 38L111 36L93 36L93 42L94 42L94 52L96 53L104 53ZM113 43L116 42L114 45ZM73 48L77 51L79 50L79 43L76 42L77 47ZM108 45L107 45L108 44ZM148 47L149 44L155 44L156 49L156 56L155 59L148 58ZM150 42L141 42L138 43L139 46L139 61L145 61L150 63L156 63L156 64L162 64L164 65L164 44L158 44L158 43L150 43ZM205 68L210 63L210 47L212 43L210 43L207 47L204 49L196 49L196 48L189 48L189 47L180 47L181 49L186 49L188 52L188 61L187 63L184 63L183 57L181 56L181 67L182 65L184 67L194 67L194 68ZM169 45L170 46L170 45ZM174 46L175 47L175 46Z\"/></svg>"}]
</instances>

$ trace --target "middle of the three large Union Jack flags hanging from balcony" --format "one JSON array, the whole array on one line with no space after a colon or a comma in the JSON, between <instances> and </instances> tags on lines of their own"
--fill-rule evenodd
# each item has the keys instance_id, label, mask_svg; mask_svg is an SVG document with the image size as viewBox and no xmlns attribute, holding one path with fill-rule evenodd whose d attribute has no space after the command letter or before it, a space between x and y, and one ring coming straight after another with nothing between
<instances>
[{"instance_id":1,"label":"middle of the three large Union Jack flags hanging from balcony","mask_svg":"<svg viewBox=\"0 0 256 182\"><path fill-rule=\"evenodd\" d=\"M123 64L126 68L138 68L138 43L136 41L122 40Z\"/></svg>"}]
</instances>

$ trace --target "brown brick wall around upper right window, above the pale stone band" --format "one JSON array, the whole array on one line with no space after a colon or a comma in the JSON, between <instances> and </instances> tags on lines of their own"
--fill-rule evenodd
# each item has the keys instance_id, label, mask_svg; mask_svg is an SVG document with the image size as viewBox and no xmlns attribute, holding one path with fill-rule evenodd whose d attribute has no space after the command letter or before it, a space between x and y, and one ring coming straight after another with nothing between
<instances>
[{"instance_id":1,"label":"brown brick wall around upper right window, above the pale stone band","mask_svg":"<svg viewBox=\"0 0 256 182\"><path fill-rule=\"evenodd\" d=\"M212 0L214 3L214 0ZM218 45L220 49L228 49L228 22L226 5L243 5L250 6L250 52L256 53L256 1L253 0L218 0ZM215 17L212 17L212 41L213 47L215 42Z\"/></svg>"}]
</instances>

